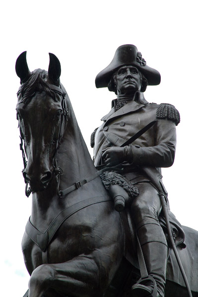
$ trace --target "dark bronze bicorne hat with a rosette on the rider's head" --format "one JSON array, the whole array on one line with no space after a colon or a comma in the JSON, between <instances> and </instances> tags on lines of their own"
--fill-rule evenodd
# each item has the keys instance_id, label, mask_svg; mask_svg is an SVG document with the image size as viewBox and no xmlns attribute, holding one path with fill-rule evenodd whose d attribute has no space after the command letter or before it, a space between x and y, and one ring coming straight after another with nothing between
<instances>
[{"instance_id":1,"label":"dark bronze bicorne hat with a rosette on the rider's head","mask_svg":"<svg viewBox=\"0 0 198 297\"><path fill-rule=\"evenodd\" d=\"M109 66L96 76L96 88L107 87L114 71L123 65L136 67L145 76L148 85L155 86L160 84L160 73L146 65L146 61L142 58L141 52L137 51L137 48L133 45L123 45L116 50Z\"/></svg>"}]
</instances>

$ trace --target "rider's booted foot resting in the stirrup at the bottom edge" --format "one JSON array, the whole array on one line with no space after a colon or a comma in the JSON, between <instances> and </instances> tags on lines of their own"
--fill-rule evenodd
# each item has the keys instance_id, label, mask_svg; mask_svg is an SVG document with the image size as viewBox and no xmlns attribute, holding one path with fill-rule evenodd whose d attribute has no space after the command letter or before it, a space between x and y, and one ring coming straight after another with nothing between
<instances>
[{"instance_id":1,"label":"rider's booted foot resting in the stirrup at the bottom edge","mask_svg":"<svg viewBox=\"0 0 198 297\"><path fill-rule=\"evenodd\" d=\"M153 288L147 287L149 282L152 282ZM137 283L132 286L132 293L134 297L157 297L157 285L154 278L151 275L146 278L140 277Z\"/></svg>"}]
</instances>

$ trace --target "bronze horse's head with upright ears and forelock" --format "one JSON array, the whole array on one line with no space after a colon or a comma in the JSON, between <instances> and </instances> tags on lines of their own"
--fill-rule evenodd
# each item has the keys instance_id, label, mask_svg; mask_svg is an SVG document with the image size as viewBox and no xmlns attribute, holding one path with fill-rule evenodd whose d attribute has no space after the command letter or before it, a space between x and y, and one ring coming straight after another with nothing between
<instances>
[{"instance_id":1,"label":"bronze horse's head with upright ears and forelock","mask_svg":"<svg viewBox=\"0 0 198 297\"><path fill-rule=\"evenodd\" d=\"M22 172L33 192L45 190L54 173L58 173L56 155L66 128L66 90L60 84L61 64L54 54L49 55L48 72L41 69L30 72L26 51L16 60L16 74L21 83L16 111L27 156Z\"/></svg>"}]
</instances>

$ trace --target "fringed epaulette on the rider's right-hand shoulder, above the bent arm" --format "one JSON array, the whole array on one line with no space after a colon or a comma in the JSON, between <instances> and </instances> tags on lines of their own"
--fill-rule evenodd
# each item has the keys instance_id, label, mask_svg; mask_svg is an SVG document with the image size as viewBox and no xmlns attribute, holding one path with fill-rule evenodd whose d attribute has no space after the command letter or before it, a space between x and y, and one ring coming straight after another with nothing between
<instances>
[{"instance_id":1,"label":"fringed epaulette on the rider's right-hand shoulder, above the bent arm","mask_svg":"<svg viewBox=\"0 0 198 297\"><path fill-rule=\"evenodd\" d=\"M157 108L156 118L171 120L177 126L180 122L180 113L174 105L169 103L161 103Z\"/></svg>"}]
</instances>

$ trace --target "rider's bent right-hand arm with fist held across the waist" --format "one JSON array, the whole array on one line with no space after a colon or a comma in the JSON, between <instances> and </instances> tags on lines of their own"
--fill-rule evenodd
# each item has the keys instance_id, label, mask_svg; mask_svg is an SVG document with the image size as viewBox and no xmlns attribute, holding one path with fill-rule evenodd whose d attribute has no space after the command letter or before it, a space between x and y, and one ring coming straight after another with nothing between
<instances>
[{"instance_id":1,"label":"rider's bent right-hand arm with fist held across the waist","mask_svg":"<svg viewBox=\"0 0 198 297\"><path fill-rule=\"evenodd\" d=\"M173 121L158 119L155 143L153 147L131 144L124 148L107 148L102 157L107 166L127 161L142 166L170 167L174 162L176 149L176 125Z\"/></svg>"}]
</instances>

